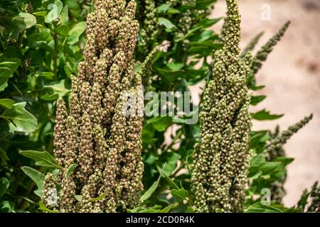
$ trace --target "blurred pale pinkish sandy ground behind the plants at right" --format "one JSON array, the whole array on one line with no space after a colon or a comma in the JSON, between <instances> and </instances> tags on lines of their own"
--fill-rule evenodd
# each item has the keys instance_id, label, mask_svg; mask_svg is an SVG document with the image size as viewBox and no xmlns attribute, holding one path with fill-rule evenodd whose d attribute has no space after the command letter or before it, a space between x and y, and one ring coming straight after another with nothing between
<instances>
[{"instance_id":1,"label":"blurred pale pinkish sandy ground behind the plants at right","mask_svg":"<svg viewBox=\"0 0 320 227\"><path fill-rule=\"evenodd\" d=\"M254 122L254 129L284 129L313 113L308 126L285 145L287 155L294 157L288 168L284 203L293 206L302 190L320 180L320 1L319 0L238 0L242 14L242 44L261 31L265 35L260 45L277 33L286 21L292 21L282 41L257 74L258 84L267 87L257 94L267 99L253 110L268 109L272 114L285 114L277 121ZM264 5L268 4L268 5ZM261 15L270 6L271 20ZM218 1L211 15L225 15L225 2ZM215 31L221 23L215 26Z\"/></svg>"}]
</instances>

